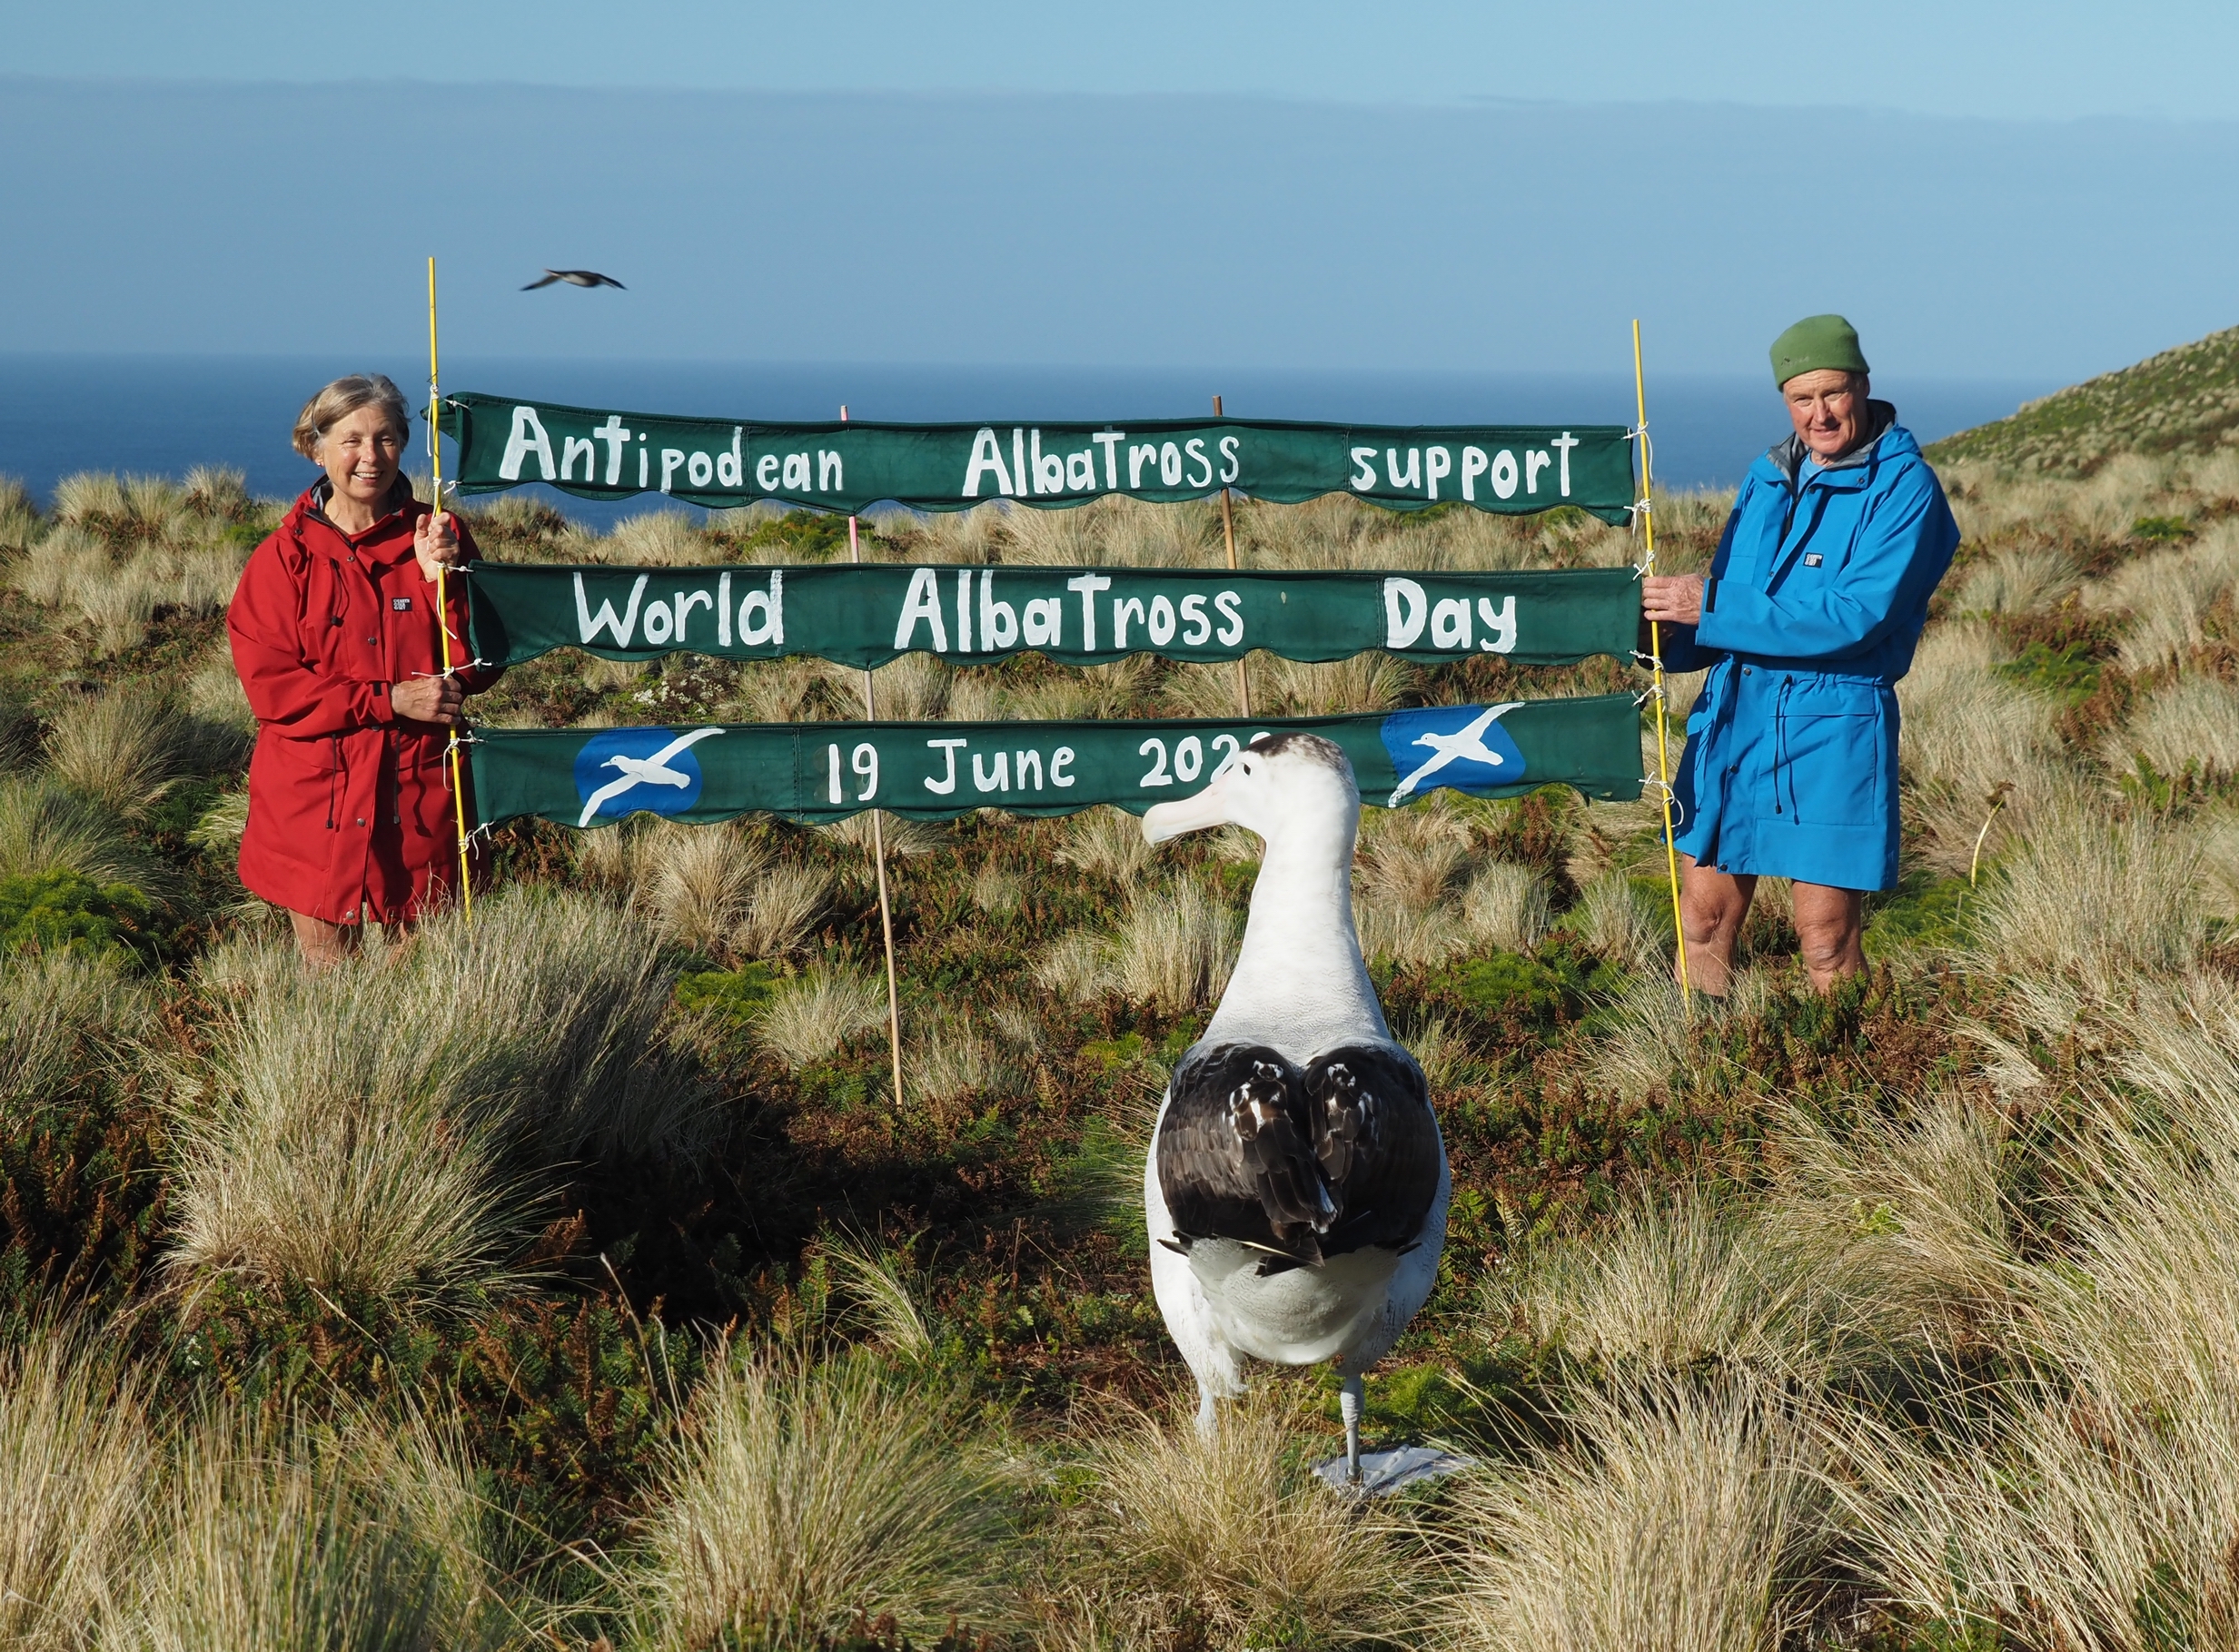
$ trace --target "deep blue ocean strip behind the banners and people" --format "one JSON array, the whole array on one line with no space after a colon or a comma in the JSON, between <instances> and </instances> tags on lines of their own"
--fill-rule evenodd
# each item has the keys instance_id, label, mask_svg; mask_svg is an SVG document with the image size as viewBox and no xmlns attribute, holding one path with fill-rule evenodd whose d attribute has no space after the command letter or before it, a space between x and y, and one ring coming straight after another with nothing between
<instances>
[{"instance_id":1,"label":"deep blue ocean strip behind the banners and people","mask_svg":"<svg viewBox=\"0 0 2239 1652\"><path fill-rule=\"evenodd\" d=\"M305 398L347 372L385 372L405 394L425 389L425 360L365 356L0 356L0 477L45 499L78 470L181 475L233 466L251 492L296 495L311 468L289 448ZM446 360L448 389L535 396L620 412L739 421L855 419L990 423L1189 419L1220 394L1236 419L1359 423L1623 423L1634 419L1621 374L1312 372L1164 367L878 367L864 363ZM2042 381L1876 378L1921 441L2004 419L2055 389ZM1668 376L1648 383L1657 481L1720 488L1784 434L1760 378ZM423 461L421 461L423 463ZM537 490L542 492L542 488ZM667 501L622 506L551 495L569 515L605 524ZM674 506L669 506L674 508Z\"/></svg>"}]
</instances>

